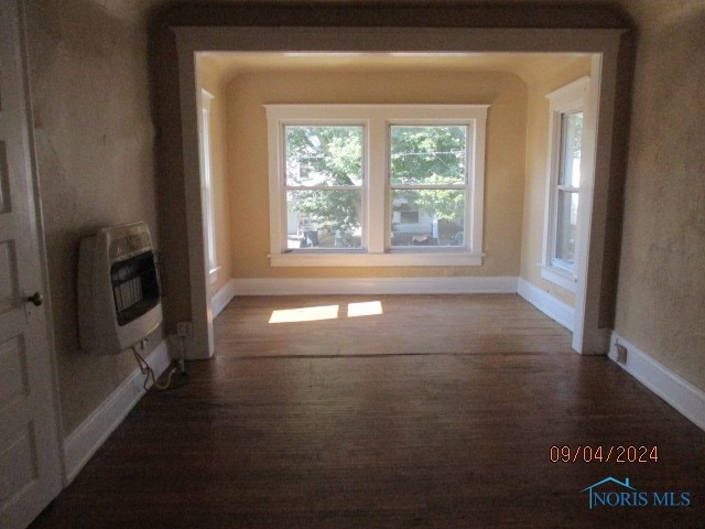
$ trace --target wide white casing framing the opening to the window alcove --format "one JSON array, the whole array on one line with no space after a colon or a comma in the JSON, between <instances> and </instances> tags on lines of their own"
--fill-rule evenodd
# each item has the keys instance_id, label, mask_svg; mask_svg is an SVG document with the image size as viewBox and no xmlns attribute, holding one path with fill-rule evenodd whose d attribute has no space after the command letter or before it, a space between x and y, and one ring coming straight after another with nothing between
<instances>
[{"instance_id":1,"label":"wide white casing framing the opening to the window alcove","mask_svg":"<svg viewBox=\"0 0 705 529\"><path fill-rule=\"evenodd\" d=\"M209 295L204 214L200 197L197 73L199 52L406 52L406 53L587 53L592 54L589 101L594 119L594 156L585 170L593 175L581 195L577 289L573 348L606 354L609 330L599 322L604 256L608 229L612 129L618 55L625 28L339 28L174 25L178 66L184 195L188 238L188 273L193 346L191 358L213 355L213 306Z\"/></svg>"}]
</instances>

